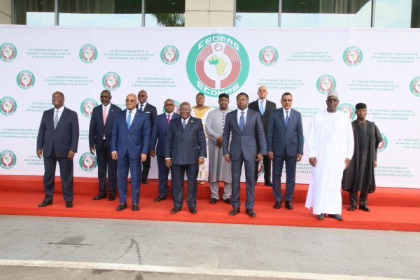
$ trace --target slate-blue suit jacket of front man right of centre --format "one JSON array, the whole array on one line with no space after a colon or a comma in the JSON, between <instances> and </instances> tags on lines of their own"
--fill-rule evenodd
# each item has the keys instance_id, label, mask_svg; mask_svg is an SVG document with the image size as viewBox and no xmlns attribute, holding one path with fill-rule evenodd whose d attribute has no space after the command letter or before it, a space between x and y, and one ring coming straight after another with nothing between
<instances>
[{"instance_id":1,"label":"slate-blue suit jacket of front man right of centre","mask_svg":"<svg viewBox=\"0 0 420 280\"><path fill-rule=\"evenodd\" d=\"M245 120L244 131L239 130L237 120L238 110L226 115L225 127L223 129L223 155L230 154L232 160L239 160L241 153L246 160L255 160L258 153L267 154L267 144L265 143L264 129L260 113L248 108ZM232 132L232 141L229 147L229 137Z\"/></svg>"}]
</instances>

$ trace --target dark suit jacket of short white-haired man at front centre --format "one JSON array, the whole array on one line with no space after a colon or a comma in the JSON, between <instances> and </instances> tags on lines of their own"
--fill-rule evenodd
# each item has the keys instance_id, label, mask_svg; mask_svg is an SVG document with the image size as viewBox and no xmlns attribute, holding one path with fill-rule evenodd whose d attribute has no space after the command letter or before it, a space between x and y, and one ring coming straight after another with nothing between
<instances>
[{"instance_id":1,"label":"dark suit jacket of short white-haired man at front centre","mask_svg":"<svg viewBox=\"0 0 420 280\"><path fill-rule=\"evenodd\" d=\"M207 158L207 144L203 123L200 118L190 116L183 130L182 118L169 123L165 158L171 158L174 165L194 165L198 158Z\"/></svg>"}]
</instances>

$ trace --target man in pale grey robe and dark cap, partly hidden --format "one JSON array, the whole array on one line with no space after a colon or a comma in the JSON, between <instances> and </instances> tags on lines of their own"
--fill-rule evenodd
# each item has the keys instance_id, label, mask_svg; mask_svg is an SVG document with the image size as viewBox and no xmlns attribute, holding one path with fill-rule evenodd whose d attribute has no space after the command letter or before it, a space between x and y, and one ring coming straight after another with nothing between
<instances>
[{"instance_id":1,"label":"man in pale grey robe and dark cap, partly hidden","mask_svg":"<svg viewBox=\"0 0 420 280\"><path fill-rule=\"evenodd\" d=\"M230 162L223 157L222 135L225 126L225 117L232 109L229 109L229 95L222 93L218 99L219 108L209 112L206 119L206 134L209 135L209 182L210 182L210 204L219 200L219 182L224 182L223 201L230 204L232 195L232 173Z\"/></svg>"}]
</instances>

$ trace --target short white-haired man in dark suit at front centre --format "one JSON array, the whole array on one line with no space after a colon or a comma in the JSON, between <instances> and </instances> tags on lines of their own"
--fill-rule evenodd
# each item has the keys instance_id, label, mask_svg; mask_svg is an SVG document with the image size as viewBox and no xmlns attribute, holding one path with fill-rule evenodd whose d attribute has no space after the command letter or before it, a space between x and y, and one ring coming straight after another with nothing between
<instances>
[{"instance_id":1,"label":"short white-haired man in dark suit at front centre","mask_svg":"<svg viewBox=\"0 0 420 280\"><path fill-rule=\"evenodd\" d=\"M166 165L171 168L174 208L171 213L181 211L183 204L183 178L187 172L187 205L191 214L197 214L198 166L207 158L206 137L200 118L191 117L191 105L183 102L181 118L171 120L165 146Z\"/></svg>"}]
</instances>

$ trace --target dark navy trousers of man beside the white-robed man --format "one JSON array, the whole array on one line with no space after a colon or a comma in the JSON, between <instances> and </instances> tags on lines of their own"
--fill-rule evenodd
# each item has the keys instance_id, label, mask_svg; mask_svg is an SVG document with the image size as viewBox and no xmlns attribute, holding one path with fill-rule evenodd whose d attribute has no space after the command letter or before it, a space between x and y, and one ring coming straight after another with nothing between
<instances>
[{"instance_id":1,"label":"dark navy trousers of man beside the white-robed man","mask_svg":"<svg viewBox=\"0 0 420 280\"><path fill-rule=\"evenodd\" d=\"M296 157L289 157L286 152L281 156L274 155L273 160L273 193L276 202L281 202L281 172L286 162L286 201L293 200L296 179Z\"/></svg>"}]
</instances>

